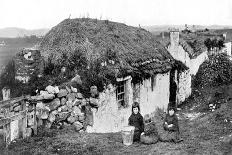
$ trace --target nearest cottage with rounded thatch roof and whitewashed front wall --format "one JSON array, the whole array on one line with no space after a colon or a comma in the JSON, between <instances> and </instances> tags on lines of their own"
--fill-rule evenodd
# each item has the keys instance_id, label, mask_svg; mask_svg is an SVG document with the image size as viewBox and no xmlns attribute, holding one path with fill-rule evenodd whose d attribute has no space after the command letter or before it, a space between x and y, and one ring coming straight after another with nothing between
<instances>
[{"instance_id":1,"label":"nearest cottage with rounded thatch roof and whitewashed front wall","mask_svg":"<svg viewBox=\"0 0 232 155\"><path fill-rule=\"evenodd\" d=\"M142 115L157 107L166 110L170 71L182 65L150 32L108 20L66 19L47 33L40 49L46 60L57 65L70 64L77 54L86 63L71 69L79 72L82 81L100 75L108 81L97 99L98 108L93 109L94 123L88 132L120 131L128 124L134 101L140 103ZM94 76L82 75L83 69L92 72L91 68Z\"/></svg>"}]
</instances>

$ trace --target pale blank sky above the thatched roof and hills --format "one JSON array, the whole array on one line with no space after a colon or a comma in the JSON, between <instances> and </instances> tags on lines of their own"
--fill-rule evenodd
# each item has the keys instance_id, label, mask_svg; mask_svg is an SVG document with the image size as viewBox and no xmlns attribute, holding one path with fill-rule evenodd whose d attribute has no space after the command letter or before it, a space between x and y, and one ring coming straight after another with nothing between
<instances>
[{"instance_id":1,"label":"pale blank sky above the thatched roof and hills","mask_svg":"<svg viewBox=\"0 0 232 155\"><path fill-rule=\"evenodd\" d=\"M0 28L52 28L69 16L132 26L232 25L232 0L0 0Z\"/></svg>"}]
</instances>

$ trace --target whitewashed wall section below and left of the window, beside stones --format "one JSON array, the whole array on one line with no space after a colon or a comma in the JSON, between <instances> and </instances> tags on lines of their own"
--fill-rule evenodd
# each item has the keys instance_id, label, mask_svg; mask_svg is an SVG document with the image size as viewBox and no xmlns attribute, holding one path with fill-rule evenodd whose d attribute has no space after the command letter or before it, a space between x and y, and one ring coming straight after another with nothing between
<instances>
[{"instance_id":1,"label":"whitewashed wall section below and left of the window, beside stones","mask_svg":"<svg viewBox=\"0 0 232 155\"><path fill-rule=\"evenodd\" d=\"M93 110L93 127L88 127L87 132L108 133L119 132L123 126L128 125L133 103L131 78L126 81L127 108L120 108L116 101L116 88L109 86L100 93L99 108Z\"/></svg>"}]
</instances>

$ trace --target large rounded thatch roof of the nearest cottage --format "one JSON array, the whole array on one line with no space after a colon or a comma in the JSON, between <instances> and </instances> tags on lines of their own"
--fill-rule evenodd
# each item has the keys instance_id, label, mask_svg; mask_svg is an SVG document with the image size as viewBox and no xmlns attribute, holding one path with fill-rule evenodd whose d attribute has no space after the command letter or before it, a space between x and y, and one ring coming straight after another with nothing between
<instances>
[{"instance_id":1,"label":"large rounded thatch roof of the nearest cottage","mask_svg":"<svg viewBox=\"0 0 232 155\"><path fill-rule=\"evenodd\" d=\"M41 54L59 63L63 53L82 52L89 62L115 60L115 65L138 72L163 73L173 58L154 36L142 28L108 20L65 19L40 44Z\"/></svg>"}]
</instances>

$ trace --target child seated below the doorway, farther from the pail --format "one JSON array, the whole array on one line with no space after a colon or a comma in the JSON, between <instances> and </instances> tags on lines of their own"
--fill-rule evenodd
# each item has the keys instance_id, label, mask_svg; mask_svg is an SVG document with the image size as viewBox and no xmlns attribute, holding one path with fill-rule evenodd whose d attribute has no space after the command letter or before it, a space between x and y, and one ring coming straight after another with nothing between
<instances>
[{"instance_id":1,"label":"child seated below the doorway, farther from the pail","mask_svg":"<svg viewBox=\"0 0 232 155\"><path fill-rule=\"evenodd\" d=\"M174 141L175 143L182 141L180 139L180 131L178 118L175 114L175 109L170 107L163 123L164 130L167 132L167 139L163 141Z\"/></svg>"}]
</instances>

